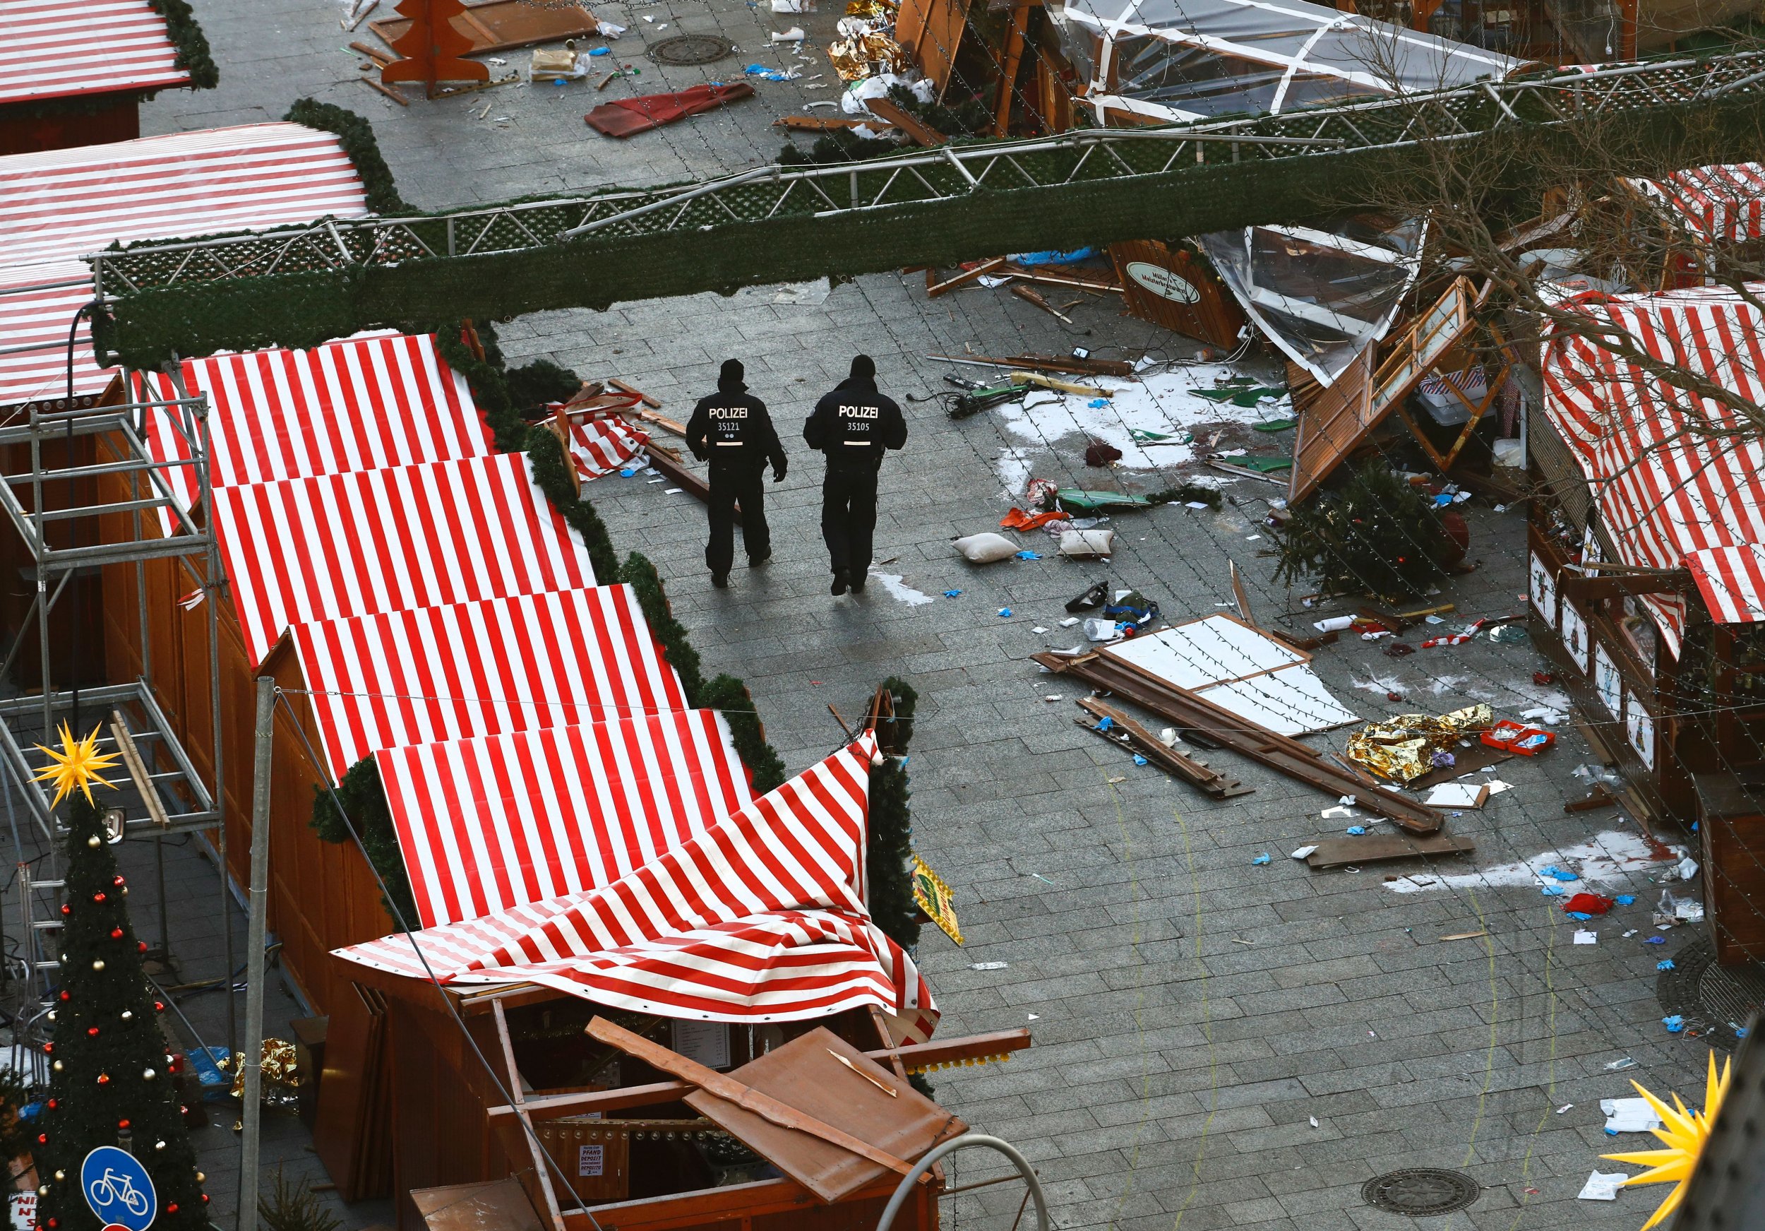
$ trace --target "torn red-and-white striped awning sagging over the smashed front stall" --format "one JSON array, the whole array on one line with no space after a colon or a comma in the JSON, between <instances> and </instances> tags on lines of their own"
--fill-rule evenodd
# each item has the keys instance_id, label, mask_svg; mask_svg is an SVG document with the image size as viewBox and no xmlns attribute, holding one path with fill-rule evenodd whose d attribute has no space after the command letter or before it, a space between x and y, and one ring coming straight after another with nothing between
<instances>
[{"instance_id":1,"label":"torn red-and-white striped awning sagging over the smashed front stall","mask_svg":"<svg viewBox=\"0 0 1765 1231\"><path fill-rule=\"evenodd\" d=\"M443 984L540 984L667 1017L800 1021L875 1005L923 1040L937 1023L930 989L863 902L874 754L867 733L611 885L335 952L411 978L427 963Z\"/></svg>"}]
</instances>

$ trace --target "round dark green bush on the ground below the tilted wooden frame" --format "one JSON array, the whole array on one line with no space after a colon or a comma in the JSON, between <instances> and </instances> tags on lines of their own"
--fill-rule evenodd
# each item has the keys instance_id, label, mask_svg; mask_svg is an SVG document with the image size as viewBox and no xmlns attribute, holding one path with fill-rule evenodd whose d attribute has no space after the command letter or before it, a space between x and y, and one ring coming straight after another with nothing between
<instances>
[{"instance_id":1,"label":"round dark green bush on the ground below the tilted wooden frame","mask_svg":"<svg viewBox=\"0 0 1765 1231\"><path fill-rule=\"evenodd\" d=\"M1393 600L1428 593L1456 551L1428 496L1377 457L1294 509L1274 539L1276 581L1318 578L1334 593Z\"/></svg>"}]
</instances>

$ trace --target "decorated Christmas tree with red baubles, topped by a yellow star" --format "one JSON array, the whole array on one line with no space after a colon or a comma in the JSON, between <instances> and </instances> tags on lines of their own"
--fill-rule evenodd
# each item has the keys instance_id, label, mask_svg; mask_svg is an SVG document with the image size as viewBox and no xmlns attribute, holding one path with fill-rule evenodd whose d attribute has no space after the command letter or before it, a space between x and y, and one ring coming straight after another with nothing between
<instances>
[{"instance_id":1,"label":"decorated Christmas tree with red baubles, topped by a yellow star","mask_svg":"<svg viewBox=\"0 0 1765 1231\"><path fill-rule=\"evenodd\" d=\"M67 890L62 904L60 987L53 993L49 1099L37 1118L37 1224L56 1231L104 1226L81 1192L79 1171L97 1146L120 1146L146 1169L157 1196L154 1227L199 1231L208 1222L178 1107L173 1056L141 970L146 945L134 938L125 899L129 885L104 841L104 814L92 784L104 782L106 758L97 738L74 742L64 729L62 751L49 752L41 777L72 795L67 819ZM108 784L108 782L106 782Z\"/></svg>"}]
</instances>

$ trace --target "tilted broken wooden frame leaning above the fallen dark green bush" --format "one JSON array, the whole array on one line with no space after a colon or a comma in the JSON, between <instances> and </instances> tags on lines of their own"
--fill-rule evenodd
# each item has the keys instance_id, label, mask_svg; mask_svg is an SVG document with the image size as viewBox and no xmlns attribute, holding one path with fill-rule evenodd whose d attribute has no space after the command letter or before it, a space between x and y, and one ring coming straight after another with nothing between
<instances>
[{"instance_id":1,"label":"tilted broken wooden frame leaning above the fallen dark green bush","mask_svg":"<svg viewBox=\"0 0 1765 1231\"><path fill-rule=\"evenodd\" d=\"M1407 321L1400 320L1398 329L1361 351L1331 385L1322 385L1288 364L1288 387L1299 420L1288 502L1304 500L1317 491L1393 412L1428 459L1442 473L1451 472L1513 371L1507 337L1484 311L1490 288L1491 283L1484 283L1479 290L1468 277L1451 279L1438 298ZM1484 383L1483 394L1476 397L1465 392L1467 385L1474 385L1472 373L1481 374ZM1465 422L1446 449L1435 443L1431 429L1423 426L1408 404L1410 396L1430 376L1465 412Z\"/></svg>"}]
</instances>

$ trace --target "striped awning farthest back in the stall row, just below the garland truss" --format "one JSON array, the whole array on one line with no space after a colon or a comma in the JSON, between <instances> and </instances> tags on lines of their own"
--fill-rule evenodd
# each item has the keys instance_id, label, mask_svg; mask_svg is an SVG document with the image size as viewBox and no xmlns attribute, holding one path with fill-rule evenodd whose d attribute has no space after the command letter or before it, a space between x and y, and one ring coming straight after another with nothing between
<instances>
[{"instance_id":1,"label":"striped awning farthest back in the stall row, just below the garland truss","mask_svg":"<svg viewBox=\"0 0 1765 1231\"><path fill-rule=\"evenodd\" d=\"M434 337L378 334L312 350L261 350L184 360L184 389L208 396L208 482L215 487L411 466L496 452L466 378L436 353ZM176 397L162 373L143 376ZM171 415L150 413L154 457L189 457ZM198 482L173 472L185 509Z\"/></svg>"}]
</instances>

